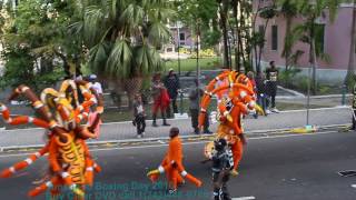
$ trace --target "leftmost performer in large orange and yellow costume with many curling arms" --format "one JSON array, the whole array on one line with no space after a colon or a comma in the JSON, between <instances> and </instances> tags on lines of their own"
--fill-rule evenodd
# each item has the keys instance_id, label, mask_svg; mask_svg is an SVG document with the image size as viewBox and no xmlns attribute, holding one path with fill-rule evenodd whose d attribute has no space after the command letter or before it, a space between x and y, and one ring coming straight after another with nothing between
<instances>
[{"instance_id":1,"label":"leftmost performer in large orange and yellow costume with many curling arms","mask_svg":"<svg viewBox=\"0 0 356 200\"><path fill-rule=\"evenodd\" d=\"M82 103L78 101L79 92L85 98ZM47 88L41 92L40 99L29 87L22 84L13 91L9 100L20 94L31 101L38 118L11 117L10 110L1 103L0 111L3 120L13 126L32 123L44 128L48 130L48 142L26 160L3 170L0 176L9 178L48 153L50 180L28 194L34 197L49 189L55 197L60 192L60 186L67 186L75 192L77 199L83 199L85 186L93 183L93 171L101 171L92 160L85 140L96 138L95 128L103 111L102 99L91 83L82 80L65 80L59 91ZM98 114L93 122L87 126L86 121L91 107L96 107Z\"/></svg>"}]
</instances>

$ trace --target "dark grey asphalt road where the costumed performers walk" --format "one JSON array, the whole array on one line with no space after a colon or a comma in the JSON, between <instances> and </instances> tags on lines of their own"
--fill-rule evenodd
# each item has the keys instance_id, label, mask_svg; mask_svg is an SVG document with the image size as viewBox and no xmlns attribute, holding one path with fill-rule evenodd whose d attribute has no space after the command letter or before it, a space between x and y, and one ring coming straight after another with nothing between
<instances>
[{"instance_id":1,"label":"dark grey asphalt road where the costumed performers walk","mask_svg":"<svg viewBox=\"0 0 356 200\"><path fill-rule=\"evenodd\" d=\"M240 167L229 189L234 198L255 197L258 200L355 200L356 177L344 178L338 171L356 169L356 132L325 132L249 139ZM93 150L103 171L96 177L87 199L211 199L209 164L201 164L204 143L185 144L185 166L200 178L204 187L186 183L169 197L165 184L152 187L146 178L157 167L167 149L165 144L125 149ZM23 154L0 156L3 169ZM0 179L0 199L24 199L31 182L46 170L46 159L36 162L11 179ZM162 179L164 180L164 179ZM160 198L154 196L160 194ZM63 196L68 199L69 193ZM126 197L126 198L125 198ZM39 199L46 199L41 196Z\"/></svg>"}]
</instances>

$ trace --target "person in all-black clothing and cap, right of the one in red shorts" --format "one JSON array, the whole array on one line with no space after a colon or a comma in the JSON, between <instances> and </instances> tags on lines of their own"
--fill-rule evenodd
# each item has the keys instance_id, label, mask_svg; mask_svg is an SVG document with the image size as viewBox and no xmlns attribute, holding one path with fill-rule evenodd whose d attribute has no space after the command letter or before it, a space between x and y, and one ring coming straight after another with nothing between
<instances>
[{"instance_id":1,"label":"person in all-black clothing and cap, right of the one in red shorts","mask_svg":"<svg viewBox=\"0 0 356 200\"><path fill-rule=\"evenodd\" d=\"M178 91L180 89L179 84L179 77L177 73L175 73L174 69L169 69L168 74L166 76L164 80L165 87L167 88L169 99L171 102L172 111L174 113L178 113L178 107L177 107L177 97ZM171 114L170 106L167 107L167 118L171 118L174 114Z\"/></svg>"}]
</instances>

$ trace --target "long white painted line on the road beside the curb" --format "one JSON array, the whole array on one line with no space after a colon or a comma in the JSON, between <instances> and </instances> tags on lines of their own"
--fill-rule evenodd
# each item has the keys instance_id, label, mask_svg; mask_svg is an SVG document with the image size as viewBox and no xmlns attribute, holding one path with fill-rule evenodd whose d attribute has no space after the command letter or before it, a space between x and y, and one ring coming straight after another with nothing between
<instances>
[{"instance_id":1,"label":"long white painted line on the road beside the curb","mask_svg":"<svg viewBox=\"0 0 356 200\"><path fill-rule=\"evenodd\" d=\"M250 138L248 140L261 140L261 139L278 139L278 138L289 138L289 137L303 137L303 136L318 136L318 134L330 134L330 133L337 133L336 131L325 131L325 132L312 132L312 133L294 133L294 134L286 134L286 136L267 136L267 137L256 137ZM184 146L190 146L190 144L200 144L206 143L207 141L196 141L196 142L187 142L182 143ZM145 149L145 148L159 148L159 147L167 147L168 143L164 144L151 144L151 146L137 146L137 147L118 147L118 148L106 148L106 149L91 149L90 151L111 151L111 150L129 150L129 149ZM7 157L23 157L29 156L31 153L13 153L13 154L0 154L0 158L7 158Z\"/></svg>"}]
</instances>

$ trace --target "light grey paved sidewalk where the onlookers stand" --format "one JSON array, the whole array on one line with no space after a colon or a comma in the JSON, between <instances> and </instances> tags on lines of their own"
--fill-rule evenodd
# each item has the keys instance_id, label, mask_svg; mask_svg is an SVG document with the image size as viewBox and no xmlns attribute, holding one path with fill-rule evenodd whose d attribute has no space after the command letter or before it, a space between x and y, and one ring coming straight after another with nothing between
<instances>
[{"instance_id":1,"label":"light grey paved sidewalk where the onlookers stand","mask_svg":"<svg viewBox=\"0 0 356 200\"><path fill-rule=\"evenodd\" d=\"M327 108L310 110L310 124L315 126L330 126L350 123L352 113L350 108ZM171 127L178 127L182 136L192 134L190 119L168 120ZM298 128L306 124L306 111L283 111L280 113L273 113L268 117L259 117L258 119L244 120L245 132L276 130L287 128ZM158 124L161 121L158 120ZM217 123L210 127L215 131ZM161 138L167 137L170 127L151 127L151 121L147 121L147 129L145 138ZM16 147L16 146L38 146L43 144L43 129L16 129L16 130L0 130L0 148ZM131 122L113 122L105 123L101 127L101 136L97 141L108 140L129 140L136 138L136 128Z\"/></svg>"}]
</instances>

